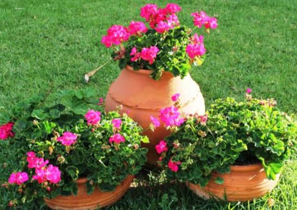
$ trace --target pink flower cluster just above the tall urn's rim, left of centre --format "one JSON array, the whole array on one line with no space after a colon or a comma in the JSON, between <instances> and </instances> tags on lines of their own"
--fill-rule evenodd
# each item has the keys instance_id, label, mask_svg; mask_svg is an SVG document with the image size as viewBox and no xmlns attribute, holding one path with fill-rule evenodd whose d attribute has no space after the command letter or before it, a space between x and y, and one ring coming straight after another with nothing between
<instances>
[{"instance_id":1,"label":"pink flower cluster just above the tall urn's rim, left of centre","mask_svg":"<svg viewBox=\"0 0 297 210\"><path fill-rule=\"evenodd\" d=\"M133 56L130 60L136 61L139 59L149 61L149 64L152 64L157 57L159 49L156 46L151 46L149 48L144 47L141 52L137 52L136 47L133 47L131 50L130 56Z\"/></svg>"}]
</instances>

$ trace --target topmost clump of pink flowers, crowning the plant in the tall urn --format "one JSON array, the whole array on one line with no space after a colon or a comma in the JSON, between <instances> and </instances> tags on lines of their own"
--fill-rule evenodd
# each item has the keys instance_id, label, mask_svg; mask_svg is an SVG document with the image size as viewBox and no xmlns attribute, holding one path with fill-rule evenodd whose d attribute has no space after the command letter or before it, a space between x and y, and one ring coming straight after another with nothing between
<instances>
[{"instance_id":1,"label":"topmost clump of pink flowers, crowning the plant in the tall urn","mask_svg":"<svg viewBox=\"0 0 297 210\"><path fill-rule=\"evenodd\" d=\"M180 7L175 3L168 3L165 8L158 8L156 4L146 4L140 10L140 16L149 22L149 26L159 33L164 33L179 26L176 13Z\"/></svg>"}]
</instances>

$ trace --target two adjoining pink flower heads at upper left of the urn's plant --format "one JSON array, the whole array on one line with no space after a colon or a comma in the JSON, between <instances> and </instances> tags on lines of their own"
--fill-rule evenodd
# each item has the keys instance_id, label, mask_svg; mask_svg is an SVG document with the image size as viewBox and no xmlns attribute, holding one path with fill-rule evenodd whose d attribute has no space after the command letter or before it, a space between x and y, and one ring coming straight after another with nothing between
<instances>
[{"instance_id":1,"label":"two adjoining pink flower heads at upper left of the urn's plant","mask_svg":"<svg viewBox=\"0 0 297 210\"><path fill-rule=\"evenodd\" d=\"M147 32L147 27L143 22L131 21L130 25L126 28L121 25L113 25L107 30L107 35L102 36L101 43L105 47L119 45L127 41L131 35L141 35Z\"/></svg>"}]
</instances>

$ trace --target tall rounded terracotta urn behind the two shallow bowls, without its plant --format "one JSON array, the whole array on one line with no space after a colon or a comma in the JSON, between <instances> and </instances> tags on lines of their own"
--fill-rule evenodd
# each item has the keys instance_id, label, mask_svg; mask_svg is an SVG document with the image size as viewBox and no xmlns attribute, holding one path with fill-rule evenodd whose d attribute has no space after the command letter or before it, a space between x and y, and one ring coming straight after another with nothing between
<instances>
[{"instance_id":1,"label":"tall rounded terracotta urn behind the two shallow bowls, without its plant","mask_svg":"<svg viewBox=\"0 0 297 210\"><path fill-rule=\"evenodd\" d=\"M132 67L126 66L110 86L105 99L106 111L115 110L122 105L122 113L128 111L128 116L146 129L150 123L149 116L158 117L161 108L174 104L171 96L180 93L182 112L205 113L200 88L189 74L181 79L170 72L163 72L162 77L156 81L149 77L150 73L149 70L134 71ZM154 147L170 133L161 125L154 132L147 130L144 134L150 141L149 144L142 145L148 148L148 163L157 165L159 155Z\"/></svg>"}]
</instances>

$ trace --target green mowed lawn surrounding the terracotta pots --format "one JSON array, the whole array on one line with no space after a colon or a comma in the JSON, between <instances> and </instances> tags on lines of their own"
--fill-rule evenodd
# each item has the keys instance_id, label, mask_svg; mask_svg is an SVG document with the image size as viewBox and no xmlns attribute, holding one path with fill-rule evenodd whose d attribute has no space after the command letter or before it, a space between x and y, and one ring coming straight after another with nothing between
<instances>
[{"instance_id":1,"label":"green mowed lawn surrounding the terracotta pots","mask_svg":"<svg viewBox=\"0 0 297 210\"><path fill-rule=\"evenodd\" d=\"M150 1L165 6L172 1ZM207 107L218 97L243 98L246 88L255 97L273 97L278 107L297 112L297 1L178 0L179 21L192 27L191 12L216 16L219 27L206 35L207 58L191 75L200 85ZM116 63L98 71L88 84L84 74L109 59L100 38L113 24L144 21L144 0L1 0L0 110L38 92L95 87L105 96L119 75ZM54 100L49 98L49 101ZM0 182L15 167L8 145L0 148ZM3 163L7 163L6 168ZM286 163L277 187L250 203L204 201L182 183L144 170L139 185L109 209L297 209L297 158ZM160 181L162 180L162 181ZM160 185L161 184L161 185ZM9 196L0 188L0 209ZM10 195L13 197L13 195ZM269 201L269 202L268 202ZM33 204L32 204L33 205ZM34 206L26 207L35 209ZM23 209L26 209L25 207ZM44 207L42 207L44 208Z\"/></svg>"}]
</instances>

